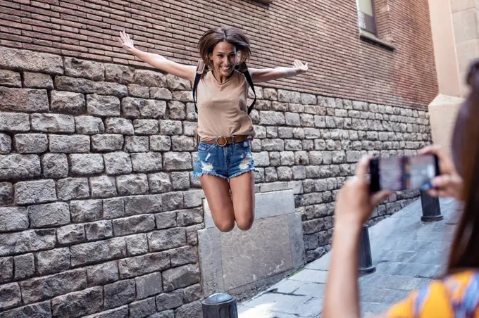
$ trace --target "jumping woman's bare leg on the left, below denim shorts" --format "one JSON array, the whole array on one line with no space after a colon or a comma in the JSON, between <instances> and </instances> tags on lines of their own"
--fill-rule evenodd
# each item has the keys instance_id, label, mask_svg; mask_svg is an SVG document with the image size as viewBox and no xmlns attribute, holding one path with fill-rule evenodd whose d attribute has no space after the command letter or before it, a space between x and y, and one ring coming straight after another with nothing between
<instances>
[{"instance_id":1,"label":"jumping woman's bare leg on the left, below denim shorts","mask_svg":"<svg viewBox=\"0 0 479 318\"><path fill-rule=\"evenodd\" d=\"M203 174L199 181L211 210L211 216L220 231L228 232L235 227L235 213L230 196L228 180Z\"/></svg>"}]
</instances>

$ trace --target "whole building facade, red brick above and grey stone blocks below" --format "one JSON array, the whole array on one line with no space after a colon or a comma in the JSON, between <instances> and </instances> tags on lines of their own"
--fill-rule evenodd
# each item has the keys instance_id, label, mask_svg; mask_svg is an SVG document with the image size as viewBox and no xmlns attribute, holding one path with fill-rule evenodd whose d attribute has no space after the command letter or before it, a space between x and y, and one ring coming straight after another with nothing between
<instances>
[{"instance_id":1,"label":"whole building facade, red brick above and grey stone blocks below","mask_svg":"<svg viewBox=\"0 0 479 318\"><path fill-rule=\"evenodd\" d=\"M418 0L0 1L0 317L200 317L190 84L125 53L121 30L196 64L202 32L231 25L251 67L309 63L258 85L251 113L256 190L292 191L304 263L329 250L361 155L430 143L429 17Z\"/></svg>"}]
</instances>

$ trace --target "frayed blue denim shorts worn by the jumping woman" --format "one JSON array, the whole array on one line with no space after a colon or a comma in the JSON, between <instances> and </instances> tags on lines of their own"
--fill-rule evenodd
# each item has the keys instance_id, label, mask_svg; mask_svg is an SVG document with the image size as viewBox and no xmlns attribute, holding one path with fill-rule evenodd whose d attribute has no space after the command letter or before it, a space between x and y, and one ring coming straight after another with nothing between
<instances>
[{"instance_id":1,"label":"frayed blue denim shorts worn by the jumping woman","mask_svg":"<svg viewBox=\"0 0 479 318\"><path fill-rule=\"evenodd\" d=\"M253 170L254 160L249 140L225 146L200 141L197 162L193 169L194 177L211 174L223 179L230 179Z\"/></svg>"}]
</instances>

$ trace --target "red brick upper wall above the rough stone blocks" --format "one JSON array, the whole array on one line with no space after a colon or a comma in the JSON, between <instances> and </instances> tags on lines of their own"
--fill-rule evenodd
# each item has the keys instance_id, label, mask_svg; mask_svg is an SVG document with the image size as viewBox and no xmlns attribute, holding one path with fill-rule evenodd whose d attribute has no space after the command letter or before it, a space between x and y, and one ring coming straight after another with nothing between
<instances>
[{"instance_id":1,"label":"red brick upper wall above the rough stone blocks","mask_svg":"<svg viewBox=\"0 0 479 318\"><path fill-rule=\"evenodd\" d=\"M437 81L428 1L381 0L395 51L359 39L356 1L0 0L0 44L64 56L143 65L118 46L118 31L141 49L196 63L207 27L234 25L253 43L250 65L308 62L311 72L266 86L393 106L426 106ZM385 23L381 18L381 23Z\"/></svg>"}]
</instances>

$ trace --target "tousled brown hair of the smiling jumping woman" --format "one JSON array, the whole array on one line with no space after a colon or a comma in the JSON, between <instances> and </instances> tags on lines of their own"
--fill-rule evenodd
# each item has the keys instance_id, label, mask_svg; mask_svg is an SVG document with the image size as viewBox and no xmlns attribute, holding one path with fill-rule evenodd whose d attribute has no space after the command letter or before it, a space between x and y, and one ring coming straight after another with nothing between
<instances>
[{"instance_id":1,"label":"tousled brown hair of the smiling jumping woman","mask_svg":"<svg viewBox=\"0 0 479 318\"><path fill-rule=\"evenodd\" d=\"M209 54L213 52L216 44L220 42L228 42L234 45L236 51L239 52L238 68L240 70L246 68L246 62L249 61L251 56L251 45L247 36L234 27L217 27L204 32L198 42L199 55L204 64L208 68L213 68Z\"/></svg>"}]
</instances>

